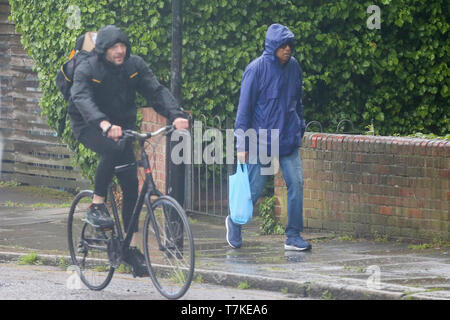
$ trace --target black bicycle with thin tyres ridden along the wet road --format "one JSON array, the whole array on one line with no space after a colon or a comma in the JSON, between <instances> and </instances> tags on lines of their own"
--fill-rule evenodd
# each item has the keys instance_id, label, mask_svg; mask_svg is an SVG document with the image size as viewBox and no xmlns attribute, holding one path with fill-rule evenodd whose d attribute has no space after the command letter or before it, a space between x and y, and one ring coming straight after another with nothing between
<instances>
[{"instance_id":1,"label":"black bicycle with thin tyres ridden along the wet road","mask_svg":"<svg viewBox=\"0 0 450 320\"><path fill-rule=\"evenodd\" d=\"M165 196L156 189L144 147L151 137L162 133L168 135L173 130L173 126L166 126L149 133L141 134L131 130L123 133L122 141L138 141L141 160L137 164L145 172L145 180L125 237L111 186L108 188L107 198L109 211L114 216L114 228L110 230L99 230L85 220L93 191L84 190L76 195L68 219L69 250L81 281L89 289L104 289L110 283L114 271L122 267L124 253L129 249L133 236L130 230L139 223L144 203L147 214L143 224L142 243L153 284L169 299L178 299L189 289L194 274L195 253L188 219L184 209L174 198ZM132 163L116 167L115 172L128 170L135 165Z\"/></svg>"}]
</instances>

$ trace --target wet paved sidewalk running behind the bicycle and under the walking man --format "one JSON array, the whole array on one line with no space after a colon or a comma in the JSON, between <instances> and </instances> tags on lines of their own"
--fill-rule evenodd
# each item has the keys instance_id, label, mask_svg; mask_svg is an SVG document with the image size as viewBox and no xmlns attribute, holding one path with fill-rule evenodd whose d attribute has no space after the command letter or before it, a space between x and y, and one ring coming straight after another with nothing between
<instances>
[{"instance_id":1,"label":"wet paved sidewalk running behind the bicycle and under the walking man","mask_svg":"<svg viewBox=\"0 0 450 320\"><path fill-rule=\"evenodd\" d=\"M51 264L68 255L68 208L30 208L36 201L51 203L0 187L0 260L35 251ZM450 299L448 246L422 250L396 241L305 232L313 249L290 252L284 250L284 236L261 236L256 219L243 228L242 248L231 249L224 219L197 215L190 222L196 274L205 282L233 287L247 282L253 289L317 299Z\"/></svg>"}]
</instances>

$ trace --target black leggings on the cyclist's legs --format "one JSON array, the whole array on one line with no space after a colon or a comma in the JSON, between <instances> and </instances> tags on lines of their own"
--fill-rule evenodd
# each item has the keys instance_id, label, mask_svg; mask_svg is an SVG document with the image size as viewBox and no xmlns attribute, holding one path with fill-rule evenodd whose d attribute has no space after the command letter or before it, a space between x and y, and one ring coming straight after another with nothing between
<instances>
[{"instance_id":1,"label":"black leggings on the cyclist's legs","mask_svg":"<svg viewBox=\"0 0 450 320\"><path fill-rule=\"evenodd\" d=\"M114 140L104 137L100 128L95 127L83 130L78 141L100 155L100 162L95 173L94 193L100 197L106 197L108 185L114 175L114 167L136 162L133 143L128 142L121 149ZM119 172L116 176L122 188L122 219L125 231L127 231L138 196L137 166ZM136 225L133 232L137 231L138 226Z\"/></svg>"}]
</instances>

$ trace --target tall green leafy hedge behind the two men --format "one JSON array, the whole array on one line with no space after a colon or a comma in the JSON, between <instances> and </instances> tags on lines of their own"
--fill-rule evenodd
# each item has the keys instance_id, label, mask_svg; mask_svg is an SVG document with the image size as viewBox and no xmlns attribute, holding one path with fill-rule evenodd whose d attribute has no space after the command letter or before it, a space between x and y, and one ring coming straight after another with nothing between
<instances>
[{"instance_id":1,"label":"tall green leafy hedge behind the two men","mask_svg":"<svg viewBox=\"0 0 450 320\"><path fill-rule=\"evenodd\" d=\"M118 25L129 35L133 53L169 85L170 1L10 3L22 43L36 63L43 114L56 131L66 104L54 79L83 32ZM373 4L380 8L380 29L368 27L367 8ZM70 5L79 8L79 21ZM448 1L191 0L183 6L182 94L194 116L234 119L243 71L262 53L268 26L278 22L297 37L307 122L320 121L328 132L342 119L361 132L373 121L381 135L450 131ZM92 177L96 160L74 142L70 126L62 139Z\"/></svg>"}]
</instances>

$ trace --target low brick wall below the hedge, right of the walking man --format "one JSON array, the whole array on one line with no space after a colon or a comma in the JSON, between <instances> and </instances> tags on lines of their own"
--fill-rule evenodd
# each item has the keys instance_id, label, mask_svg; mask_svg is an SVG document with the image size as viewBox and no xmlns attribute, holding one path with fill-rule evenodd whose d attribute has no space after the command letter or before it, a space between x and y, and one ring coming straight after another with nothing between
<instances>
[{"instance_id":1,"label":"low brick wall below the hedge, right of the walking man","mask_svg":"<svg viewBox=\"0 0 450 320\"><path fill-rule=\"evenodd\" d=\"M450 141L307 133L300 153L305 228L450 239ZM281 172L275 195L285 223Z\"/></svg>"}]
</instances>

